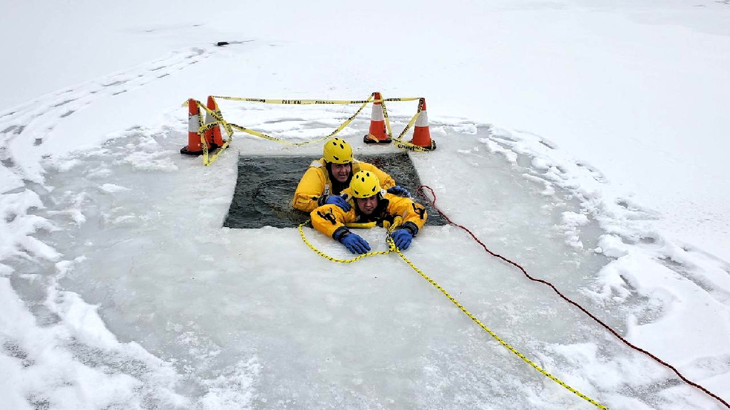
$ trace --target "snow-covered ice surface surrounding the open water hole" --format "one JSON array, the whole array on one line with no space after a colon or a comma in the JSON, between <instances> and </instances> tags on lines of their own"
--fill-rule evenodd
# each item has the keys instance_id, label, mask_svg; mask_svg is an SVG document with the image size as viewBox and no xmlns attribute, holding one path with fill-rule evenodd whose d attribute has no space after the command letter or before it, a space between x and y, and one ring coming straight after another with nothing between
<instances>
[{"instance_id":1,"label":"snow-covered ice surface surrounding the open water hole","mask_svg":"<svg viewBox=\"0 0 730 410\"><path fill-rule=\"evenodd\" d=\"M399 7L416 5L451 37L434 29L423 45L396 30L412 18ZM369 47L349 47L344 35L307 31L308 42L299 42L301 29L315 23L300 21L295 7L229 4L242 14L191 22L179 4L145 5L177 22L163 26L118 6L47 5L48 15L78 9L64 28L88 52L58 63L66 53L54 42L71 41L58 37L39 42L45 60L34 57L28 67L56 67L54 75L30 81L31 74L4 68L0 409L594 408L505 349L395 254L342 264L312 252L296 228L222 227L239 153L317 155L321 143L292 147L237 133L212 166L180 155L187 98L360 99L382 87L385 98L429 99L438 149L409 155L448 217L730 401L730 264L720 246L728 243L730 211L723 171L712 168L727 147L717 131L730 125L719 120L713 97L729 88L718 73L730 67L730 26L721 24L730 7L697 5L454 4L458 18L447 21L439 7L389 4L383 14L381 4L358 14L388 27L390 47L377 67ZM13 7L9 15L27 15L32 4ZM334 4L310 7L333 30L354 24L335 18ZM81 29L93 12L108 18L88 20L99 38ZM129 20L133 14L137 20ZM248 23L236 28L242 15ZM278 17L270 28L263 16L271 15ZM4 19L4 29L46 39ZM470 30L482 34L480 42ZM661 43L653 33L675 48L648 47ZM545 55L534 45L538 34L549 45ZM215 47L220 39L234 41ZM593 53L568 59L583 70L575 82L572 71L553 70L555 61L590 48L573 39L600 40ZM423 72L403 65L402 50L427 58ZM621 55L621 67L635 64L656 77L645 88L624 87L641 77L613 66L607 50ZM682 53L691 58L669 58ZM624 82L600 88L605 70L586 62L591 57ZM520 67L552 77L530 82ZM689 75L677 77L683 72ZM581 93L583 109L565 102L586 85L596 99ZM684 85L691 85L683 88L687 100L658 94ZM614 96L611 88L628 93L643 115L617 115L626 106L605 98ZM532 98L545 104L524 102ZM696 107L683 102L690 100ZM329 134L354 112L352 105L221 106L227 120L291 142ZM415 110L388 109L394 131ZM682 128L685 117L694 128ZM669 125L647 131L660 120ZM591 121L598 125L581 125ZM363 114L339 134L356 158L396 152L361 143L368 123ZM704 150L704 160L681 155L688 136L672 134L670 125L698 131L691 152ZM676 186L658 183L663 178ZM674 190L693 196L677 199ZM702 222L708 218L710 225ZM303 231L326 254L351 257L330 238ZM358 233L374 250L387 249L382 229ZM507 344L610 409L723 408L456 226L423 228L404 255Z\"/></svg>"}]
</instances>

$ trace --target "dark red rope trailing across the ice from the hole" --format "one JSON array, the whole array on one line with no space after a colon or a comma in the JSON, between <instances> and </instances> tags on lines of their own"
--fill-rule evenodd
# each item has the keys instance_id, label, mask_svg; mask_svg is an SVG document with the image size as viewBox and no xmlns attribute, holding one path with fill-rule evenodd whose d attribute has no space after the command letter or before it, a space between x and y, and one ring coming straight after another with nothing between
<instances>
[{"instance_id":1,"label":"dark red rope trailing across the ice from the hole","mask_svg":"<svg viewBox=\"0 0 730 410\"><path fill-rule=\"evenodd\" d=\"M431 199L430 199L430 198L429 198L428 196L426 196L426 193L424 193L424 192L423 192L423 188L426 188L426 189L428 189L429 191L431 191L431 196L433 196L433 197L434 197L434 199L433 199L433 200L431 200ZM723 403L723 405L725 405L725 406L726 406L726 407L727 407L728 409L730 409L730 404L728 404L728 403L727 403L726 401L724 401L724 400L723 400L722 398L720 398L720 397L719 397L718 395L715 395L714 393L710 392L710 390L707 390L706 388L704 388L704 387L700 386L699 384L696 384L695 382L692 382L691 380L687 379L687 378L686 378L685 376L683 376L683 375L682 375L682 374L681 374L681 373L680 373L679 371L677 371L677 369L676 369L676 368L675 368L674 366L670 365L669 363L666 363L666 362L665 362L664 360L661 360L660 358L656 357L655 355L651 354L650 352L647 352L647 351L646 351L645 349L642 349L642 348L640 348L640 347L634 346L634 344L631 344L631 342L629 342L628 340L626 340L626 339L623 339L623 337L621 337L621 335L619 335L619 334L618 334L618 333L616 332L616 330L613 330L613 329L612 329L612 328L611 328L611 327L610 327L609 325L607 325L606 323L604 323L604 322L603 322L602 320L600 320L600 319L599 319L598 317L596 317L596 316L594 316L593 314L591 314L591 312L588 312L588 310L586 310L585 308L583 308L583 306L580 306L580 305L579 305L578 303L576 303L576 302L572 301L572 300L571 300L570 298L568 298L568 297L567 297L566 295L563 295L563 294L562 294L562 293L560 292L560 290L558 290L558 288L557 288L557 287L555 287L555 286L554 286L554 285L553 285L552 283L550 283L550 282L548 282L548 281L545 281L545 280L543 280L543 279L537 279L537 278L534 278L534 277L530 276L530 274L528 274L528 273L527 273L527 271L525 270L525 268L523 268L522 266L520 266L520 265L519 265L518 263L516 263L516 262L512 262L512 260L509 260L509 259L507 259L507 258L504 258L504 256L502 256L502 255L499 255L499 254L496 254L495 252L492 252L491 250L489 250L489 249L487 248L487 246L486 246L486 245L485 245L485 244L484 244L484 243L483 243L482 241L480 241L480 240L479 240L479 238L477 238L477 236L475 236L475 234L474 234L474 233L472 233L472 231L469 231L469 229L465 228L464 226L462 226L462 225L459 225L458 223L455 223L455 222L453 222L453 220L451 220L451 219L450 219L450 217L447 217L447 216L446 216L446 214L445 214L444 212L442 212L442 210L441 210L441 209L439 209L439 207L438 207L438 206L436 206L436 193L434 193L434 190L433 190L433 189L431 189L431 187L429 187L428 185L421 185L420 187L418 187L418 189L416 190L416 192L417 192L417 193L418 193L418 194L419 194L420 196L423 196L423 198L426 198L426 200L427 200L427 201L430 201L430 203L431 203L431 206L433 206L433 207L434 207L434 209L436 209L436 211L437 211L437 212L439 212L439 214L440 214L440 215L441 215L441 216L442 216L442 217L443 217L443 218L444 218L445 220L447 220L447 222L448 222L448 223L450 223L451 225L454 225L454 226L458 226L458 228L461 228L461 229L463 229L464 231L466 231L466 233L469 233L469 235L470 235L470 236L472 236L472 238L473 238L473 239L474 239L475 241L477 241L477 243L478 243L478 244L482 245L482 247L484 248L484 250L485 250L485 251L486 251L486 252L487 252L487 253L488 253L489 255L492 255L492 256L493 256L493 257L495 257L495 258L499 258L499 259L502 259L502 260L504 260L504 262L507 262L507 263L509 263L510 265L512 265L512 266L515 266L516 268L520 269L520 271L522 271L522 273L523 273L523 274L525 274L525 276L527 276L527 278L528 278L528 279L530 279L531 281L534 281L534 282L540 282L540 283L542 283L543 285L548 285L548 286L549 286L549 287L550 287L551 289L553 289L553 290L555 291L555 293L557 293L557 294L558 294L558 296L560 296L561 298L563 298L563 299L564 299L564 300L565 300L566 302L568 302L568 303L572 304L573 306L577 307L578 309L580 309L580 311L581 311L581 312L583 312L583 313L587 314L587 315L588 315L588 317L591 317L591 319L595 320L595 321L596 321L596 322L597 322L597 323L598 323L599 325L602 325L602 326L603 326L604 328L606 328L606 329L607 329L608 331L610 331L611 333L613 333L613 336L616 336L616 337L617 337L617 338L618 338L619 340L623 341L623 343L624 343L624 344L626 344L626 346L628 346L628 347L631 347L631 349L637 350L637 352L642 352L642 353L644 353L645 355L648 355L648 356L649 356L649 357L651 357L652 359L656 360L656 361L657 361L658 363L661 363L662 365L666 366L666 368L670 368L670 369L672 369L672 371L674 371L674 372L675 372L675 374L677 374L677 376L679 376L679 378L680 378L680 379L682 379L682 380L683 380L684 382L686 382L687 384L690 384L690 385L692 385L692 386L694 386L694 387L698 388L699 390L702 390L703 392L707 393L707 395L710 395L710 396L712 396L712 398L715 398L715 400L719 401L720 403Z\"/></svg>"}]
</instances>

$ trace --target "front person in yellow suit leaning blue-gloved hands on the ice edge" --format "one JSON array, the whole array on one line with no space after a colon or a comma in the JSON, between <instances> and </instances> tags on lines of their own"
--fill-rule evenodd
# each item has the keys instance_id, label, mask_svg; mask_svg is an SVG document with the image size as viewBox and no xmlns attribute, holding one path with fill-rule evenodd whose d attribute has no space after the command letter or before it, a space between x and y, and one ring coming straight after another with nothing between
<instances>
[{"instance_id":1,"label":"front person in yellow suit leaning blue-gloved hands on the ice edge","mask_svg":"<svg viewBox=\"0 0 730 410\"><path fill-rule=\"evenodd\" d=\"M429 217L423 205L383 190L380 180L371 171L355 174L342 197L352 204L350 210L345 211L336 204L325 204L312 211L310 217L317 231L341 242L353 253L367 253L370 245L350 231L348 224L374 223L388 228L396 247L407 250Z\"/></svg>"}]
</instances>

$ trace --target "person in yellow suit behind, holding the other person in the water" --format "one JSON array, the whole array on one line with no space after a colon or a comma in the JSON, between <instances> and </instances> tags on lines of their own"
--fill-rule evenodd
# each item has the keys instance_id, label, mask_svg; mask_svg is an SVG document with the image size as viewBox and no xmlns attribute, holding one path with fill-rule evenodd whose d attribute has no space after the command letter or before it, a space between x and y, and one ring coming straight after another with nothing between
<instances>
[{"instance_id":1,"label":"person in yellow suit behind, holding the other person in the water","mask_svg":"<svg viewBox=\"0 0 730 410\"><path fill-rule=\"evenodd\" d=\"M294 191L291 206L304 212L312 212L324 204L335 204L349 211L350 205L339 196L350 185L350 179L358 171L370 171L382 182L381 187L396 195L409 196L407 190L396 186L390 175L371 163L353 158L353 148L344 139L332 138L324 144L323 155L310 164Z\"/></svg>"}]
</instances>

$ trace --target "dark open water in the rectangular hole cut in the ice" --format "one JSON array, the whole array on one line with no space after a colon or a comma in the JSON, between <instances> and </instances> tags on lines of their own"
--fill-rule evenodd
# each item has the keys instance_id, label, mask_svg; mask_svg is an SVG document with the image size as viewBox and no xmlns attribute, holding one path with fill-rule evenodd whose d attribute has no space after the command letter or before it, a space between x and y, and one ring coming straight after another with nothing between
<instances>
[{"instance_id":1,"label":"dark open water in the rectangular hole cut in the ice","mask_svg":"<svg viewBox=\"0 0 730 410\"><path fill-rule=\"evenodd\" d=\"M296 228L310 215L291 207L299 179L313 160L319 156L240 156L238 178L233 201L223 226L227 228ZM407 152L358 155L358 160L372 163L387 172L396 184L406 188L414 201L426 206L429 220L426 225L446 225L446 221L417 196L420 178Z\"/></svg>"}]
</instances>

